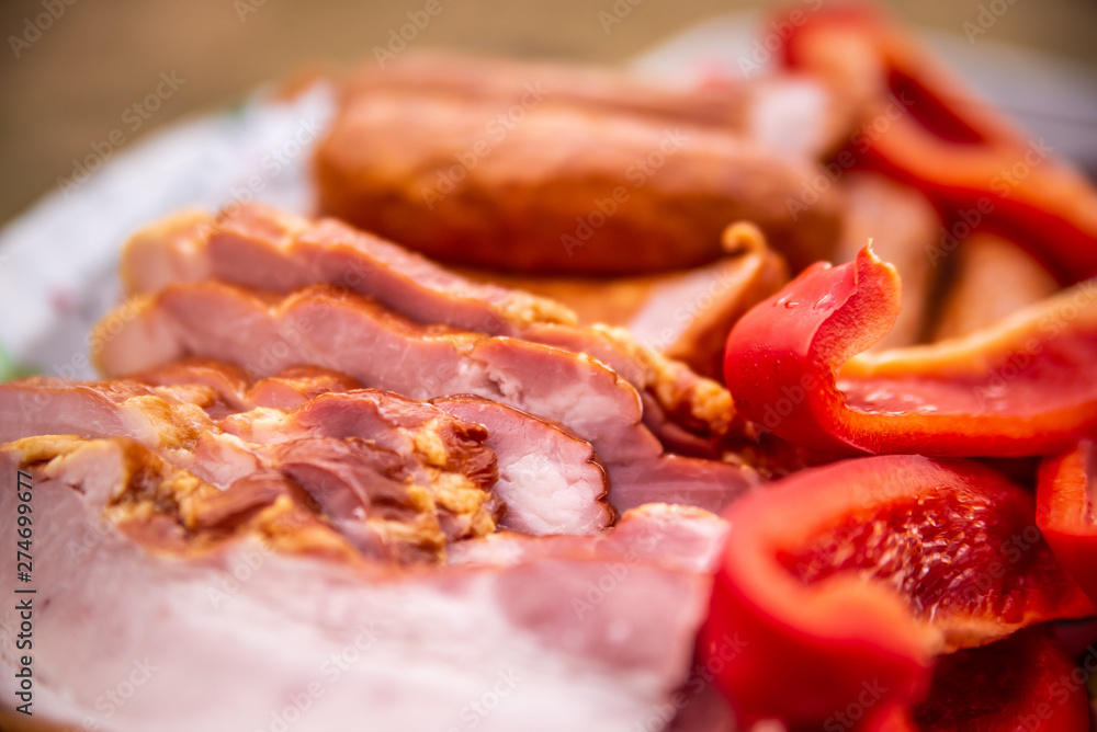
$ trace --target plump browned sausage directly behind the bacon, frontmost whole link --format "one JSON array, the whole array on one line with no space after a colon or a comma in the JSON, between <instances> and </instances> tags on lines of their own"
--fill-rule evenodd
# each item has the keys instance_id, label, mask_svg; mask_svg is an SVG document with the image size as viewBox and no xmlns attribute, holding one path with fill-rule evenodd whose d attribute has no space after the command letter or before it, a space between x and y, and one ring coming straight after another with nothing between
<instances>
[{"instance_id":1,"label":"plump browned sausage directly behind the bacon, frontmost whole link","mask_svg":"<svg viewBox=\"0 0 1097 732\"><path fill-rule=\"evenodd\" d=\"M553 93L348 93L317 152L320 206L432 258L517 272L698 266L735 220L793 268L829 256L840 206L812 184L813 163L733 129Z\"/></svg>"}]
</instances>

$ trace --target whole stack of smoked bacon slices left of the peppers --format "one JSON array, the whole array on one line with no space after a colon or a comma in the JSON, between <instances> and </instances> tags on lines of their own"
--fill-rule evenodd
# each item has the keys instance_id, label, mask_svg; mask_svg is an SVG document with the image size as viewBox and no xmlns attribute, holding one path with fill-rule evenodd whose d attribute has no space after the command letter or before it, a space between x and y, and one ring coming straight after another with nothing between
<instances>
[{"instance_id":1,"label":"whole stack of smoked bacon slices left of the peppers","mask_svg":"<svg viewBox=\"0 0 1097 732\"><path fill-rule=\"evenodd\" d=\"M122 271L108 380L0 385L5 461L46 496L38 667L82 670L53 713L147 655L179 676L118 729L269 724L363 627L310 729L444 729L499 677L495 724L617 724L680 683L726 530L688 504L757 477L660 437L716 450L719 384L332 219L181 215ZM248 677L230 717L165 698Z\"/></svg>"}]
</instances>

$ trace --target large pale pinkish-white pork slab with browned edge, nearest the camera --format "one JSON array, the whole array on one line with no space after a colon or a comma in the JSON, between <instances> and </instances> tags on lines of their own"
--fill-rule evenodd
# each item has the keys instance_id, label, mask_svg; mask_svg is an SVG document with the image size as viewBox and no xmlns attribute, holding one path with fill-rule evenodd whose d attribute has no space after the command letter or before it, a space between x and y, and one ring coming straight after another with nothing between
<instances>
[{"instance_id":1,"label":"large pale pinkish-white pork slab with browned edge, nearest the camera","mask_svg":"<svg viewBox=\"0 0 1097 732\"><path fill-rule=\"evenodd\" d=\"M292 493L224 511L132 441L21 441L0 470L34 485L35 714L118 732L633 730L685 677L722 541L714 517L649 508L539 556L396 569ZM0 630L18 624L5 604Z\"/></svg>"}]
</instances>

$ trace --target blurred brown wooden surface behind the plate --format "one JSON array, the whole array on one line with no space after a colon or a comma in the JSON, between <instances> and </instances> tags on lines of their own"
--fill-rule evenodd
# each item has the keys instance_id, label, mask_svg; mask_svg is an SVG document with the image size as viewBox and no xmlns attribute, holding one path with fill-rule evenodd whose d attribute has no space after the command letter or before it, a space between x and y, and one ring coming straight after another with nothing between
<instances>
[{"instance_id":1,"label":"blurred brown wooden surface behind the plate","mask_svg":"<svg viewBox=\"0 0 1097 732\"><path fill-rule=\"evenodd\" d=\"M0 30L0 222L71 175L72 160L129 129L132 105L161 73L185 80L121 147L184 115L241 99L309 65L369 57L428 0L3 0ZM830 0L827 0L828 2ZM71 2L71 4L68 4ZM754 0L437 0L441 12L412 42L536 57L615 62ZM619 13L609 32L599 12ZM890 0L918 26L980 43L1014 43L1097 66L1093 0ZM48 15L52 12L56 18ZM46 15L44 15L44 13ZM420 15L421 18L421 15ZM988 22L989 21L989 22ZM46 26L36 32L34 26ZM161 87L167 90L167 87ZM127 115L128 116L125 116Z\"/></svg>"}]
</instances>

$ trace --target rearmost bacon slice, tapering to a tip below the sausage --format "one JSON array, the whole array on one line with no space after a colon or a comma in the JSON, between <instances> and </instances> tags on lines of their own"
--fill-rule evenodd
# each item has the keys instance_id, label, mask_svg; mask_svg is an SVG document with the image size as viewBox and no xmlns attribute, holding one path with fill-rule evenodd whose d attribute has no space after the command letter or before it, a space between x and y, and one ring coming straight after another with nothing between
<instances>
[{"instance_id":1,"label":"rearmost bacon slice, tapering to a tip below the sausage","mask_svg":"<svg viewBox=\"0 0 1097 732\"><path fill-rule=\"evenodd\" d=\"M278 293L331 283L422 323L516 335L533 322L575 322L552 300L472 282L336 219L309 221L261 204L152 224L126 243L121 267L132 294L207 279Z\"/></svg>"}]
</instances>

